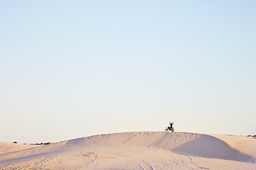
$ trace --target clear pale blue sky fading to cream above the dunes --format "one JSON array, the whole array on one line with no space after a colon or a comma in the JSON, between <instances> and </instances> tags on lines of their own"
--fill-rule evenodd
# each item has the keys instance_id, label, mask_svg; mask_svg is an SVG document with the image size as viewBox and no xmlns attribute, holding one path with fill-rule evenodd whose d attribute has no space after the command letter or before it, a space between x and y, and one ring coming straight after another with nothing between
<instances>
[{"instance_id":1,"label":"clear pale blue sky fading to cream above the dunes","mask_svg":"<svg viewBox=\"0 0 256 170\"><path fill-rule=\"evenodd\" d=\"M256 134L256 1L0 1L0 141Z\"/></svg>"}]
</instances>

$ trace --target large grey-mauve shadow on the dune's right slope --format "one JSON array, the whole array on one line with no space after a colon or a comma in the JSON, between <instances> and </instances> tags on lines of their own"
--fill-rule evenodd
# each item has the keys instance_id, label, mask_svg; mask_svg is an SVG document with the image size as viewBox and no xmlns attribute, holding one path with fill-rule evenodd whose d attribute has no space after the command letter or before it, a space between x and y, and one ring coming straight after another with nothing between
<instances>
[{"instance_id":1,"label":"large grey-mauve shadow on the dune's right slope","mask_svg":"<svg viewBox=\"0 0 256 170\"><path fill-rule=\"evenodd\" d=\"M172 149L178 154L193 154L198 157L233 160L238 162L255 162L253 157L242 154L236 149L231 148L223 140L209 135L201 135L196 140Z\"/></svg>"}]
</instances>

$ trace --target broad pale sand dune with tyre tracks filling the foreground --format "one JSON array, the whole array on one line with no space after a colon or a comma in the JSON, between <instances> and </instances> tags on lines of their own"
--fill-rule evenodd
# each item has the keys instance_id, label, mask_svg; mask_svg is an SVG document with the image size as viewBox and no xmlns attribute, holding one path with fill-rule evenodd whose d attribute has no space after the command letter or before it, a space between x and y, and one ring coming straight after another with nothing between
<instances>
[{"instance_id":1,"label":"broad pale sand dune with tyre tracks filling the foreground","mask_svg":"<svg viewBox=\"0 0 256 170\"><path fill-rule=\"evenodd\" d=\"M234 141L186 132L95 135L0 154L0 169L256 169L256 140Z\"/></svg>"}]
</instances>

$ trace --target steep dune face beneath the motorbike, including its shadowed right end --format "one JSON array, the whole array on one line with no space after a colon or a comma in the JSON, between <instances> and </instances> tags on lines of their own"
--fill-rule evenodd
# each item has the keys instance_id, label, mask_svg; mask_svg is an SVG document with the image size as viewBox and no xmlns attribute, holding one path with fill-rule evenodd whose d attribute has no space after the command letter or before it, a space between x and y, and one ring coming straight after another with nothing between
<instances>
[{"instance_id":1,"label":"steep dune face beneath the motorbike, including its shadowed right end","mask_svg":"<svg viewBox=\"0 0 256 170\"><path fill-rule=\"evenodd\" d=\"M124 132L83 137L69 140L67 144L81 147L86 145L142 145L199 157L242 162L255 161L250 155L240 153L217 137L188 132Z\"/></svg>"}]
</instances>

